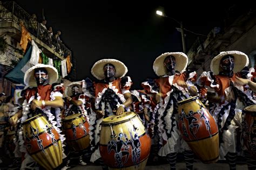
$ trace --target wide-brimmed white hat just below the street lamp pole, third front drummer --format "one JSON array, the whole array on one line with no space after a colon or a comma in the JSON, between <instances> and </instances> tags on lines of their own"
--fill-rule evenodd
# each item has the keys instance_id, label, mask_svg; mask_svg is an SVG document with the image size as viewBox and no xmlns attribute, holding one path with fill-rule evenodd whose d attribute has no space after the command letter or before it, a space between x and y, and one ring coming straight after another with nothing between
<instances>
[{"instance_id":1,"label":"wide-brimmed white hat just below the street lamp pole, third front drummer","mask_svg":"<svg viewBox=\"0 0 256 170\"><path fill-rule=\"evenodd\" d=\"M158 56L158 58L154 60L153 63L154 73L156 73L158 76L167 74L167 70L164 66L164 59L169 55L173 55L176 59L175 70L183 72L183 70L186 69L188 61L186 54L182 52L164 53Z\"/></svg>"}]
</instances>

